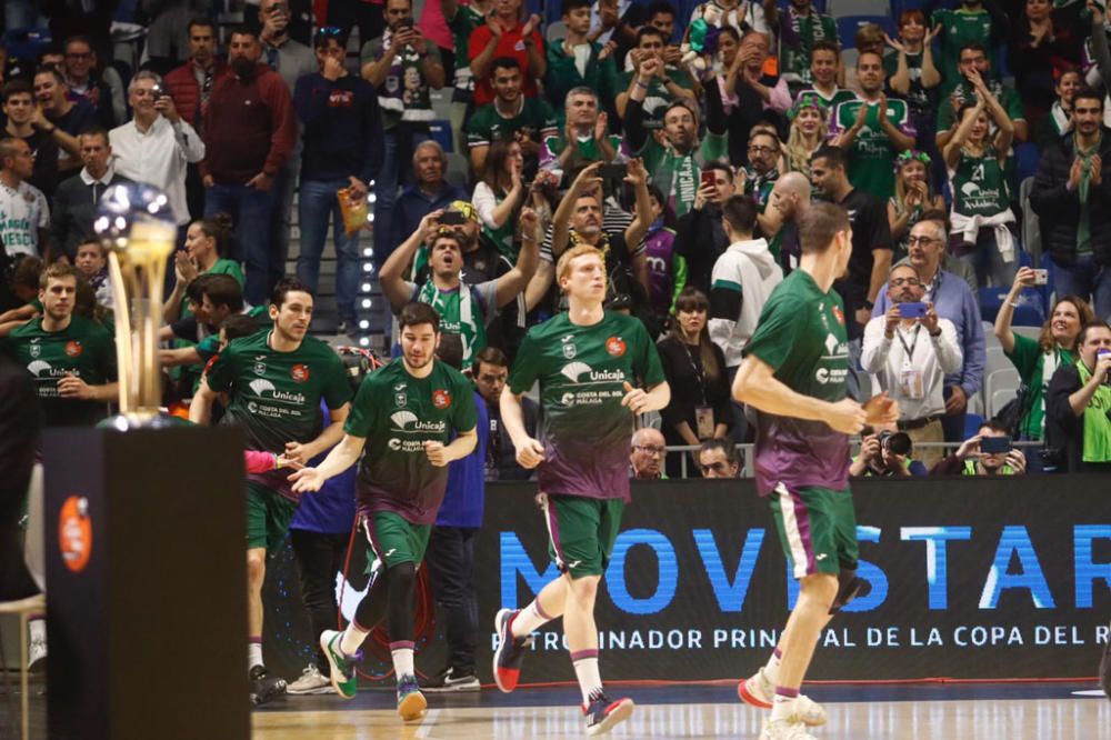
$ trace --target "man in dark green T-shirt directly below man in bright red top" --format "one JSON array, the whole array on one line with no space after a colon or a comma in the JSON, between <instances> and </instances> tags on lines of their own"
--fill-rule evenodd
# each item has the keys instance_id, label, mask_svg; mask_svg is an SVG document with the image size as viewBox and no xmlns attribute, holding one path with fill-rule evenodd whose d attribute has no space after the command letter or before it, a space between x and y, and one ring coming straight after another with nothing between
<instances>
[{"instance_id":1,"label":"man in dark green T-shirt directly below man in bright red top","mask_svg":"<svg viewBox=\"0 0 1111 740\"><path fill-rule=\"evenodd\" d=\"M521 68L512 57L499 57L490 66L494 99L481 106L467 121L467 143L471 168L482 177L490 147L499 139L521 146L521 154L534 172L540 161L540 142L556 136L556 111L542 98L521 94Z\"/></svg>"}]
</instances>

